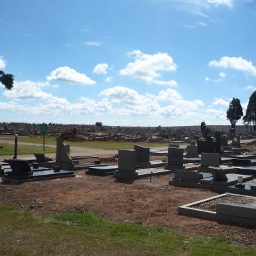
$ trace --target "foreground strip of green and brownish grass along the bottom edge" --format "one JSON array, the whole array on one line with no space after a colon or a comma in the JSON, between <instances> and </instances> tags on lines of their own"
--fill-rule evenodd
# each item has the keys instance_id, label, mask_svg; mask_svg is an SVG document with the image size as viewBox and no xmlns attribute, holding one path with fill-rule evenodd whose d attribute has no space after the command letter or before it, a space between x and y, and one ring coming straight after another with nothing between
<instances>
[{"instance_id":1,"label":"foreground strip of green and brownish grass along the bottom edge","mask_svg":"<svg viewBox=\"0 0 256 256\"><path fill-rule=\"evenodd\" d=\"M164 227L114 223L87 213L49 218L0 206L0 255L256 255L224 238L187 236Z\"/></svg>"}]
</instances>

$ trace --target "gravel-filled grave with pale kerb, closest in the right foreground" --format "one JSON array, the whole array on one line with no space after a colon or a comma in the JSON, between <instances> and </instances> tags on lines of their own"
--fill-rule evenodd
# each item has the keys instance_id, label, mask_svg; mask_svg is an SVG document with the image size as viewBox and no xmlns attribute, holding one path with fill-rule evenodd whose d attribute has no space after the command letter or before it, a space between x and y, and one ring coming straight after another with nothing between
<instances>
[{"instance_id":1,"label":"gravel-filled grave with pale kerb, closest in the right foreground","mask_svg":"<svg viewBox=\"0 0 256 256\"><path fill-rule=\"evenodd\" d=\"M178 214L204 220L256 226L256 198L224 193L180 206Z\"/></svg>"}]
</instances>

